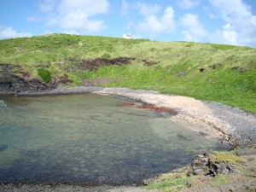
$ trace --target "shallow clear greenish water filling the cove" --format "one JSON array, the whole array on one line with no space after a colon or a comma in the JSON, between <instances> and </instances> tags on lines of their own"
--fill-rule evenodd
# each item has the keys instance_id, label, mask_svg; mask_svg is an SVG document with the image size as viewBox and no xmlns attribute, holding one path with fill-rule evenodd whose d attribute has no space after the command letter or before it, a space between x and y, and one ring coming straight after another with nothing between
<instances>
[{"instance_id":1,"label":"shallow clear greenish water filling the cove","mask_svg":"<svg viewBox=\"0 0 256 192\"><path fill-rule=\"evenodd\" d=\"M0 181L124 184L183 166L217 141L165 113L92 94L0 99Z\"/></svg>"}]
</instances>

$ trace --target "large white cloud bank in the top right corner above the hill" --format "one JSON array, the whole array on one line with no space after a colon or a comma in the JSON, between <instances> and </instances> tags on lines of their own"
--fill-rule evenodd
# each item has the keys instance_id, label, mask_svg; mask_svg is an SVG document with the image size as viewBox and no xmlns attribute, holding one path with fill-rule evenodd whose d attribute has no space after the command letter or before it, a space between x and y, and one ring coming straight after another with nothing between
<instances>
[{"instance_id":1,"label":"large white cloud bank in the top right corner above the hill","mask_svg":"<svg viewBox=\"0 0 256 192\"><path fill-rule=\"evenodd\" d=\"M181 18L185 27L183 38L187 41L211 42L256 46L256 16L241 0L210 0L215 10L214 19L224 20L225 24L213 32L207 31L198 15L187 14Z\"/></svg>"}]
</instances>

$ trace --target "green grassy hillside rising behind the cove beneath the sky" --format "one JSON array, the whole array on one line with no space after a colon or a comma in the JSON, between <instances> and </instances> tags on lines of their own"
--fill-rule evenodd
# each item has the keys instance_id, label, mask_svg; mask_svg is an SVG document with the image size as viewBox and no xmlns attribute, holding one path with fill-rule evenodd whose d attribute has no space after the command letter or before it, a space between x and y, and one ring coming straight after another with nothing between
<instances>
[{"instance_id":1,"label":"green grassy hillside rising behind the cove beneath the sky","mask_svg":"<svg viewBox=\"0 0 256 192\"><path fill-rule=\"evenodd\" d=\"M130 66L65 72L82 59L119 56L136 60ZM143 59L159 63L145 67ZM248 47L59 34L1 40L0 62L20 64L34 77L42 66L52 77L67 73L73 85L81 84L83 79L126 77L108 86L160 90L256 112L256 49ZM217 63L221 66L209 67ZM201 73L200 68L205 71ZM241 68L247 72L241 73Z\"/></svg>"}]
</instances>

